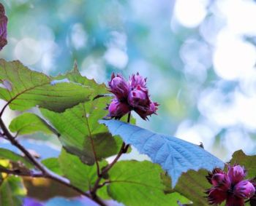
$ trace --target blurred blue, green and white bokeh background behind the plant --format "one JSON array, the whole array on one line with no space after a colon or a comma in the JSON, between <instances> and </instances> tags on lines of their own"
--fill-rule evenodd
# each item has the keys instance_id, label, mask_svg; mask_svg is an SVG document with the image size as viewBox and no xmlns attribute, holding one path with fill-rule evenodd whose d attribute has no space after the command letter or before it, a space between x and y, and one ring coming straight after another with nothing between
<instances>
[{"instance_id":1,"label":"blurred blue, green and white bokeh background behind the plant","mask_svg":"<svg viewBox=\"0 0 256 206\"><path fill-rule=\"evenodd\" d=\"M76 60L81 74L99 83L113 72L128 78L138 71L148 77L151 98L161 105L157 116L148 122L138 118L138 125L202 142L224 161L238 149L255 154L255 1L1 3L9 18L1 58L50 75L69 71ZM7 111L6 121L13 115ZM57 143L37 148L26 139L24 144L47 150L43 157L58 155Z\"/></svg>"}]
</instances>

